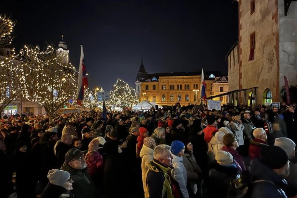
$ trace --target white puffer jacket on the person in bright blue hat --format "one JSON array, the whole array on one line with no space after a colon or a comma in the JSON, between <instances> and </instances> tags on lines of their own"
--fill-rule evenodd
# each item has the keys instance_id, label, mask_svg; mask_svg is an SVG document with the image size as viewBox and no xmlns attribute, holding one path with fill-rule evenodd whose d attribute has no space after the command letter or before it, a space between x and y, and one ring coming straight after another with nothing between
<instances>
[{"instance_id":1,"label":"white puffer jacket on the person in bright blue hat","mask_svg":"<svg viewBox=\"0 0 297 198\"><path fill-rule=\"evenodd\" d=\"M172 154L172 156L172 163L174 169L172 169L171 175L173 179L178 182L178 185L184 198L189 198L189 193L187 190L187 170L183 164L183 157L176 156L175 154Z\"/></svg>"}]
</instances>

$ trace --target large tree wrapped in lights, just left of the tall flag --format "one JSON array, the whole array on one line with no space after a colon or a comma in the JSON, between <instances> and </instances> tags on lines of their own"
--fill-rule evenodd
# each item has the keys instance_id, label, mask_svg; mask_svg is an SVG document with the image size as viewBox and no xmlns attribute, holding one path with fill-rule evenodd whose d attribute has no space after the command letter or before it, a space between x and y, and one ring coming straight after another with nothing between
<instances>
[{"instance_id":1,"label":"large tree wrapped in lights, just left of the tall flag","mask_svg":"<svg viewBox=\"0 0 297 198\"><path fill-rule=\"evenodd\" d=\"M77 71L52 46L46 50L24 46L19 53L28 89L22 94L30 101L43 105L50 118L58 112L69 99L75 98Z\"/></svg>"}]
</instances>

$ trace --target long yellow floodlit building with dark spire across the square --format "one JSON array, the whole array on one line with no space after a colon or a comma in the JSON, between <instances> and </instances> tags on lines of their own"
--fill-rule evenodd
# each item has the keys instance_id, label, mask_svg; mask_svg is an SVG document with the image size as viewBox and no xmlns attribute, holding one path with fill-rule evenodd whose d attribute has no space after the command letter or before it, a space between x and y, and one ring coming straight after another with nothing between
<instances>
[{"instance_id":1,"label":"long yellow floodlit building with dark spire across the square","mask_svg":"<svg viewBox=\"0 0 297 198\"><path fill-rule=\"evenodd\" d=\"M212 83L220 72L204 72L206 96L212 92ZM148 74L143 61L137 74L136 94L139 101L154 101L159 105L182 106L200 103L201 72L171 72Z\"/></svg>"}]
</instances>

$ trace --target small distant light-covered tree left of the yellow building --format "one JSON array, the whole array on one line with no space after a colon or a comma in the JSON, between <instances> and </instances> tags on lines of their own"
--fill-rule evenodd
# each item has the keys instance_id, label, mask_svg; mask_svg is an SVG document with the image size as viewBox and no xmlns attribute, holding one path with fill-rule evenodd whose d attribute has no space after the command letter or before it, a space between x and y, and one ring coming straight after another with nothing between
<instances>
[{"instance_id":1,"label":"small distant light-covered tree left of the yellow building","mask_svg":"<svg viewBox=\"0 0 297 198\"><path fill-rule=\"evenodd\" d=\"M121 108L131 107L137 104L137 97L135 90L129 85L121 80L117 79L116 83L113 85L113 90L110 91L110 99L107 102L108 106L118 106Z\"/></svg>"}]
</instances>

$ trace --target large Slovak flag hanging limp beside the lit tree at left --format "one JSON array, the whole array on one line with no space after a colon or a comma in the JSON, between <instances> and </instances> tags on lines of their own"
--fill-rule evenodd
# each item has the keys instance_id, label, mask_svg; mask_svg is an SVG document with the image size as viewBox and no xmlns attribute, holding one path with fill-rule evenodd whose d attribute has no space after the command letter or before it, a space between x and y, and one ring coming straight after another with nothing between
<instances>
[{"instance_id":1,"label":"large Slovak flag hanging limp beside the lit tree at left","mask_svg":"<svg viewBox=\"0 0 297 198\"><path fill-rule=\"evenodd\" d=\"M78 86L77 86L77 103L82 104L84 100L85 89L89 87L86 65L84 60L83 46L81 46L81 57L79 61Z\"/></svg>"}]
</instances>

